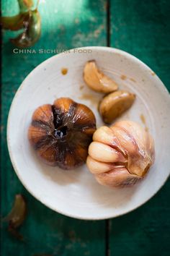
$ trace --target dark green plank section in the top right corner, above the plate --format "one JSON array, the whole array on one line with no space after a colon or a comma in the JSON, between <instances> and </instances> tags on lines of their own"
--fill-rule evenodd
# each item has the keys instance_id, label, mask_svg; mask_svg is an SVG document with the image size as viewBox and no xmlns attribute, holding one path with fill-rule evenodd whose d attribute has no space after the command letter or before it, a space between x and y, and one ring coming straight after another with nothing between
<instances>
[{"instance_id":1,"label":"dark green plank section in the top right corner, above the plate","mask_svg":"<svg viewBox=\"0 0 170 256\"><path fill-rule=\"evenodd\" d=\"M112 0L111 46L133 54L170 90L168 0Z\"/></svg>"}]
</instances>

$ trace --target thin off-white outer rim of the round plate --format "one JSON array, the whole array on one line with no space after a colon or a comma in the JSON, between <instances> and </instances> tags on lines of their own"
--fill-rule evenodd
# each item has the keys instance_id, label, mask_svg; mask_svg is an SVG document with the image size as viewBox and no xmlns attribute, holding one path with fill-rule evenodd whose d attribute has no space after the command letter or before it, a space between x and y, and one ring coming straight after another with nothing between
<instances>
[{"instance_id":1,"label":"thin off-white outer rim of the round plate","mask_svg":"<svg viewBox=\"0 0 170 256\"><path fill-rule=\"evenodd\" d=\"M102 216L102 217L81 217L79 215L76 214L72 214L72 213L68 213L68 212L64 212L62 210L58 210L57 208L53 207L52 205L48 205L47 202L44 202L42 200L42 198L38 197L37 195L35 195L35 192L32 191L32 189L30 189L29 187L27 187L27 184L25 184L25 182L22 179L22 176L19 174L18 170L17 170L17 166L15 164L14 161L14 157L13 157L13 152L10 146L10 139L9 139L9 127L10 127L10 119L11 119L11 115L12 115L12 109L14 107L14 103L17 99L17 96L19 95L19 93L22 91L22 88L24 86L25 81L29 80L30 76L32 75L33 72L35 72L36 69L39 69L40 67L44 67L46 64L48 64L52 59L56 59L58 57L66 56L66 54L70 54L71 52L73 52L75 49L80 50L80 49L91 49L91 50L95 50L95 51L107 51L107 52L112 52L115 54L122 54L122 56L126 56L128 57L128 59L133 59L133 61L136 62L136 64L140 64L143 66L143 68L145 68L146 70L153 72L153 70L148 67L148 65L146 65L143 61L140 61L140 59L138 59L137 57L133 56L132 54L129 54L126 51L122 51L119 48L112 48L112 47L108 47L108 46L84 46L84 47L79 47L79 48L71 48L68 49L67 51L69 51L67 53L66 52L62 52L60 54L55 54L54 56L51 56L50 58L46 59L45 61L42 61L40 64L37 65L37 67L35 67L34 69L32 69L32 71L27 74L27 76L24 78L24 80L22 81L21 85L19 85L19 88L17 89L17 92L14 95L14 98L12 100L11 106L9 108L9 114L7 117L7 126L6 126L6 140L7 140L7 148L9 150L9 157L10 160L12 162L12 166L14 168L15 173L17 174L17 177L19 178L20 182L22 182L23 186L25 189L27 189L27 191L33 196L35 197L38 201L40 201L43 205L45 205L46 207L50 208L51 210L54 210L56 213L60 213L63 216L68 216L71 218L76 218L76 219L81 219L81 220L86 220L86 221L99 221L99 220L104 220L104 219L109 219L109 218L117 218L119 216L123 216L127 213L132 212L133 210L136 210L137 208L139 208L140 206L144 205L146 202L148 202L148 200L150 200L154 195L156 195L156 193L161 189L161 187L164 186L164 184L166 183L167 179L169 179L169 176L167 176L167 178L165 179L164 183L161 184L161 187L158 187L158 189L156 189L155 192L153 192L150 197L148 197L146 200L143 200L143 202L140 203L140 205L136 205L135 207L131 208L130 210L124 210L122 213L118 213L115 214L113 216L113 214L108 214L107 216ZM167 90L166 86L164 85L164 83L160 80L160 78L157 76L157 74L155 74L155 77L159 80L159 82L161 82L162 84L162 89L164 89L164 94L166 94L166 97L169 96L170 99L170 94L169 91ZM170 175L170 171L169 171L169 175Z\"/></svg>"}]
</instances>

